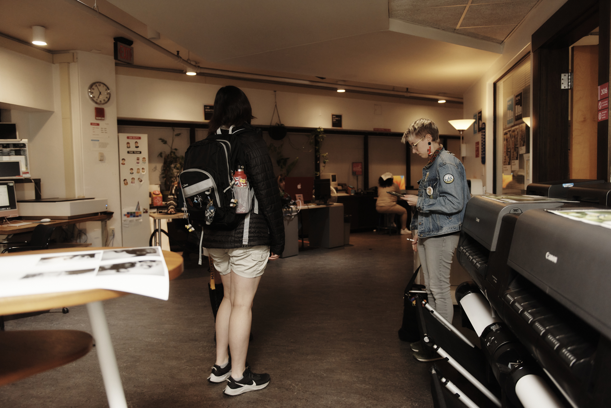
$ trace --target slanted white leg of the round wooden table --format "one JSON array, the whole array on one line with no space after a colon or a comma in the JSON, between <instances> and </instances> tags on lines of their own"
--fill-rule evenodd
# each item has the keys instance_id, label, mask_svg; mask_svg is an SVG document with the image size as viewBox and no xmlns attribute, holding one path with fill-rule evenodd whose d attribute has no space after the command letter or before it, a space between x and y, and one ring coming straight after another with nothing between
<instances>
[{"instance_id":1,"label":"slanted white leg of the round wooden table","mask_svg":"<svg viewBox=\"0 0 611 408\"><path fill-rule=\"evenodd\" d=\"M95 349L100 361L100 371L106 388L106 397L110 408L127 408L117 358L112 348L111 333L106 323L104 306L102 302L91 302L87 304L89 321L95 338Z\"/></svg>"}]
</instances>

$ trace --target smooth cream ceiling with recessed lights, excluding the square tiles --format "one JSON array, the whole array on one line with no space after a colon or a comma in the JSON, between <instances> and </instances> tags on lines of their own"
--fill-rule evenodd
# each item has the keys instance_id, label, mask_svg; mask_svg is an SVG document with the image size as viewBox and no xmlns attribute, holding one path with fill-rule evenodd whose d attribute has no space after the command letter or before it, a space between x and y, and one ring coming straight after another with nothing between
<instances>
[{"instance_id":1,"label":"smooth cream ceiling with recessed lights, excluding the square tiles","mask_svg":"<svg viewBox=\"0 0 611 408\"><path fill-rule=\"evenodd\" d=\"M82 1L91 6L95 0ZM447 1L464 4L426 0L402 6ZM101 13L141 35L147 35L147 26L159 31L159 45L190 56L202 67L301 79L319 76L326 82L408 87L435 95L461 97L500 52L486 51L499 50L497 43L487 42L489 47L485 40L440 29L436 31L446 37L426 38L419 29L435 29L408 20L400 21L411 24L403 31L389 29L398 20L389 19L388 0L97 0L97 5ZM112 55L112 37L129 37L77 6L76 0L0 0L0 34L29 42L31 26L42 25L49 43L43 48L97 49L107 55ZM460 41L452 43L447 35ZM134 43L134 55L136 65L183 68L143 43Z\"/></svg>"}]
</instances>

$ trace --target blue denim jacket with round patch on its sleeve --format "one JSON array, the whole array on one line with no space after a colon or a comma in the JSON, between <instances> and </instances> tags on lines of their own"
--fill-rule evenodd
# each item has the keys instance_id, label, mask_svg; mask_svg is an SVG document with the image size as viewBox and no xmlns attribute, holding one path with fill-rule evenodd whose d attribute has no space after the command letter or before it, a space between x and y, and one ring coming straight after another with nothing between
<instances>
[{"instance_id":1,"label":"blue denim jacket with round patch on its sleeve","mask_svg":"<svg viewBox=\"0 0 611 408\"><path fill-rule=\"evenodd\" d=\"M463 163L443 149L422 169L418 183L417 212L410 228L418 230L420 238L460 231L471 198Z\"/></svg>"}]
</instances>

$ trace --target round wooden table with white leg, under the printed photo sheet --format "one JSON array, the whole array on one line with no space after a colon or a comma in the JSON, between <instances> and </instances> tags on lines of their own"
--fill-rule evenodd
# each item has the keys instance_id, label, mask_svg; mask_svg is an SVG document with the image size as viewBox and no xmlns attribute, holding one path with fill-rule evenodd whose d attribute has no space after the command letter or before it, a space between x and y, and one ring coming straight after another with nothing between
<instances>
[{"instance_id":1,"label":"round wooden table with white leg, under the printed photo sheet","mask_svg":"<svg viewBox=\"0 0 611 408\"><path fill-rule=\"evenodd\" d=\"M111 248L75 248L71 249L71 251L92 249ZM113 247L112 249L117 249L117 247ZM53 252L65 252L65 249L30 251L28 254ZM15 255L24 254L23 252L4 253L0 256L11 257ZM163 251L163 256L166 260L170 280L180 276L184 268L183 258L178 255L178 253L169 251ZM104 388L106 389L106 396L108 397L108 405L110 408L127 408L125 393L123 393L123 385L121 384L121 377L119 375L119 367L117 366L117 359L114 354L114 349L112 348L111 335L108 330L106 315L104 314L104 307L101 302L114 297L125 296L126 294L129 293L95 289L28 296L0 297L0 315L14 315L15 313L27 313L30 311L87 304L87 313L89 313L93 338L95 338L95 346L100 362L100 371L104 381Z\"/></svg>"}]
</instances>

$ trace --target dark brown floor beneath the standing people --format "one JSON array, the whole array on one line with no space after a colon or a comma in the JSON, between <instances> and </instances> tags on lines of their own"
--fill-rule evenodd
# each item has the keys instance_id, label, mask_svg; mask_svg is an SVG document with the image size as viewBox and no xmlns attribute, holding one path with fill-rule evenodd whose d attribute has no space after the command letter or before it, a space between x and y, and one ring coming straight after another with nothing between
<instances>
[{"instance_id":1,"label":"dark brown floor beneath the standing people","mask_svg":"<svg viewBox=\"0 0 611 408\"><path fill-rule=\"evenodd\" d=\"M271 375L236 397L206 379L214 363L208 273L192 256L169 301L104 302L123 387L136 407L432 407L430 363L397 337L412 251L403 236L357 233L351 246L268 264L253 308L248 361ZM10 320L6 330L90 332L84 306ZM82 359L0 388L0 407L106 407L95 348Z\"/></svg>"}]
</instances>

